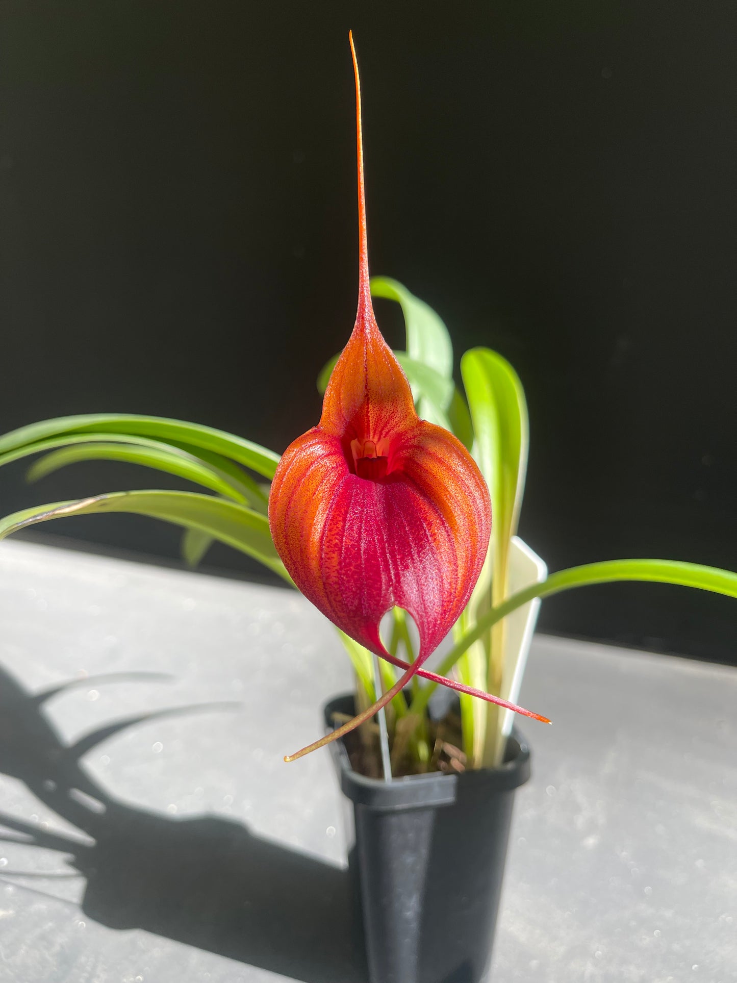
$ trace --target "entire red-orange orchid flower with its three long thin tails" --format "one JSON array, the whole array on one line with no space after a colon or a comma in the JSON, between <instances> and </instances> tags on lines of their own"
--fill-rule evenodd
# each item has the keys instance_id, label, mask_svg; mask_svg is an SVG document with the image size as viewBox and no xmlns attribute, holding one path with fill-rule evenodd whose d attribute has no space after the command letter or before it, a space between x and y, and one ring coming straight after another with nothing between
<instances>
[{"instance_id":1,"label":"entire red-orange orchid flower with its three long thin tails","mask_svg":"<svg viewBox=\"0 0 737 983\"><path fill-rule=\"evenodd\" d=\"M422 669L479 579L491 503L461 441L418 417L407 377L373 316L361 86L352 36L350 41L358 143L358 314L325 390L320 422L289 445L276 469L268 518L274 546L302 593L347 635L405 672L369 710L287 761L368 720L416 672L521 710ZM390 656L379 637L381 618L394 606L407 610L417 624L420 652L412 665Z\"/></svg>"}]
</instances>

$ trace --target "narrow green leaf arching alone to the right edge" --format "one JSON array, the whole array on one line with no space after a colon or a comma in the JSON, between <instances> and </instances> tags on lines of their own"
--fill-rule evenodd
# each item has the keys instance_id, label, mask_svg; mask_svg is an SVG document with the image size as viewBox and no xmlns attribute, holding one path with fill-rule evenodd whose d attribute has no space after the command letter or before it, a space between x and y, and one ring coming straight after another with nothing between
<instances>
[{"instance_id":1,"label":"narrow green leaf arching alone to the right edge","mask_svg":"<svg viewBox=\"0 0 737 983\"><path fill-rule=\"evenodd\" d=\"M547 598L561 591L570 591L574 587L586 587L591 584L612 584L617 581L644 581L655 584L675 584L680 587L694 587L712 594L723 594L729 598L737 598L737 573L731 570L721 570L715 566L702 566L699 563L685 563L675 559L612 559L600 563L586 563L583 566L573 566L532 584L524 591L518 591L512 597L491 610L482 614L474 628L464 633L442 663L434 670L439 675L448 675L456 662L475 642L478 642L484 632L488 631L497 621L523 607L535 598ZM436 683L428 683L422 688L410 707L411 714L422 714L425 711L432 690Z\"/></svg>"}]
</instances>

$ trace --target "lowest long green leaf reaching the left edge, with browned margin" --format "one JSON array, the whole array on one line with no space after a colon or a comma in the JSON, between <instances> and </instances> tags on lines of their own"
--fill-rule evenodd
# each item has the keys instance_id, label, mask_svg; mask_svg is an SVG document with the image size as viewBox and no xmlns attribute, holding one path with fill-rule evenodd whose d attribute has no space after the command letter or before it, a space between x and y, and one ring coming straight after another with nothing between
<instances>
[{"instance_id":1,"label":"lowest long green leaf reaching the left edge, with browned margin","mask_svg":"<svg viewBox=\"0 0 737 983\"><path fill-rule=\"evenodd\" d=\"M27 526L71 515L132 512L197 529L240 549L291 583L274 548L268 520L246 505L200 492L114 492L27 508L0 520L0 539Z\"/></svg>"}]
</instances>

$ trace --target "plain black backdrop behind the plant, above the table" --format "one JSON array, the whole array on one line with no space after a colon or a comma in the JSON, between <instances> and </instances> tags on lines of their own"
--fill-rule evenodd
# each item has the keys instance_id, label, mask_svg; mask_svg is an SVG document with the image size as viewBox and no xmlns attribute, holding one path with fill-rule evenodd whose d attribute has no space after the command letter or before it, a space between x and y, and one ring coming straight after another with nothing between
<instances>
[{"instance_id":1,"label":"plain black backdrop behind the plant, above the table","mask_svg":"<svg viewBox=\"0 0 737 983\"><path fill-rule=\"evenodd\" d=\"M551 569L737 567L731 0L0 4L0 430L138 412L282 450L316 422L356 305L349 28L372 269L457 358L517 368L523 537ZM85 465L28 490L24 470L0 473L3 512L172 485ZM55 532L178 550L130 516ZM734 602L679 588L574 592L540 624L737 661Z\"/></svg>"}]
</instances>

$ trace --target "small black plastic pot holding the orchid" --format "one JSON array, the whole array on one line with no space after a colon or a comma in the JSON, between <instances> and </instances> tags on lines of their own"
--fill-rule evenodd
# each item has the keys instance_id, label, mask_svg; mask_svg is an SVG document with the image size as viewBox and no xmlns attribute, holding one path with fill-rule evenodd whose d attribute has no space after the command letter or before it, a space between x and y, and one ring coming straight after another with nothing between
<instances>
[{"instance_id":1,"label":"small black plastic pot holding the orchid","mask_svg":"<svg viewBox=\"0 0 737 983\"><path fill-rule=\"evenodd\" d=\"M331 700L353 714L353 696ZM370 983L479 983L491 957L514 792L530 778L517 732L505 763L463 775L379 781L330 745L353 802L349 864L363 908ZM350 811L349 821L350 821Z\"/></svg>"}]
</instances>

